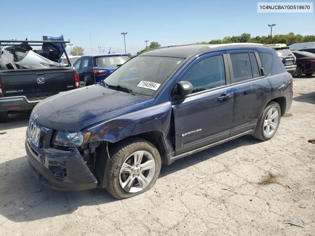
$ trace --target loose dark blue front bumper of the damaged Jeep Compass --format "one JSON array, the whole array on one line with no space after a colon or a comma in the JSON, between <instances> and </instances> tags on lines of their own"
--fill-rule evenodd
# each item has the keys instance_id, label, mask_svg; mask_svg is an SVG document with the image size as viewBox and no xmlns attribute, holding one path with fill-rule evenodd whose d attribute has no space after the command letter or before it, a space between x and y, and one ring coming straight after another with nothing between
<instances>
[{"instance_id":1,"label":"loose dark blue front bumper of the damaged Jeep Compass","mask_svg":"<svg viewBox=\"0 0 315 236\"><path fill-rule=\"evenodd\" d=\"M25 149L31 171L43 185L57 190L87 190L96 187L97 180L77 149L60 152L50 149L41 152L27 139ZM49 169L51 167L66 170L66 177L55 177Z\"/></svg>"}]
</instances>

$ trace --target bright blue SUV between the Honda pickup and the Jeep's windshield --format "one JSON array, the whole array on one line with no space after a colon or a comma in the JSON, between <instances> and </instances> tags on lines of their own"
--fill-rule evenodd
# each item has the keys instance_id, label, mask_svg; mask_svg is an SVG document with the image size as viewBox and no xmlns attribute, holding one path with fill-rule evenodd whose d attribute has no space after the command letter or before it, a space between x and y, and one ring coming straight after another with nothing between
<instances>
[{"instance_id":1,"label":"bright blue SUV between the Honda pickup and the Jeep's windshield","mask_svg":"<svg viewBox=\"0 0 315 236\"><path fill-rule=\"evenodd\" d=\"M129 59L127 54L121 53L93 54L77 59L73 66L79 73L80 81L84 82L84 86L89 86L100 83Z\"/></svg>"}]
</instances>

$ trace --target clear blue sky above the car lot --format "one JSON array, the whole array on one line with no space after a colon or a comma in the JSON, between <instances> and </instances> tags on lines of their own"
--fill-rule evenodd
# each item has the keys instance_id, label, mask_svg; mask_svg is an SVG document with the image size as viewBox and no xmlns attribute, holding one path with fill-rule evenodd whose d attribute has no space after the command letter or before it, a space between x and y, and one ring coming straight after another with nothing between
<instances>
[{"instance_id":1,"label":"clear blue sky above the car lot","mask_svg":"<svg viewBox=\"0 0 315 236\"><path fill-rule=\"evenodd\" d=\"M18 0L2 1L1 8L1 18L8 22L1 23L1 39L41 40L43 35L63 34L73 46L82 46L85 54L91 53L90 34L93 53L99 53L98 46L106 53L110 47L111 52L124 53L121 32L127 32L127 53L134 54L146 46L145 40L166 46L242 33L267 36L268 24L276 24L273 35L315 33L314 13L257 13L257 1L252 0Z\"/></svg>"}]
</instances>

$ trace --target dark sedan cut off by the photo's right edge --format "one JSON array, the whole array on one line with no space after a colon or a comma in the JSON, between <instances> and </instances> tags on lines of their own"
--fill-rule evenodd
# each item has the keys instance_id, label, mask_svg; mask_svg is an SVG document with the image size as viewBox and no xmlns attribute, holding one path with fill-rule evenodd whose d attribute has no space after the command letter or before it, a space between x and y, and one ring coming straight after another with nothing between
<instances>
[{"instance_id":1,"label":"dark sedan cut off by the photo's right edge","mask_svg":"<svg viewBox=\"0 0 315 236\"><path fill-rule=\"evenodd\" d=\"M296 57L296 70L292 74L294 77L300 77L302 74L307 76L315 72L315 54L309 52L292 51Z\"/></svg>"}]
</instances>

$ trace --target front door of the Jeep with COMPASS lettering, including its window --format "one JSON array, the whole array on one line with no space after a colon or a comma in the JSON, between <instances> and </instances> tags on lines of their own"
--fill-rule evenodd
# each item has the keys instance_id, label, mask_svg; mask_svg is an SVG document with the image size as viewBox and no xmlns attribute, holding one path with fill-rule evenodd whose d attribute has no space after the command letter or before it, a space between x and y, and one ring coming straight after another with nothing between
<instances>
[{"instance_id":1,"label":"front door of the Jeep with COMPASS lettering, including its window","mask_svg":"<svg viewBox=\"0 0 315 236\"><path fill-rule=\"evenodd\" d=\"M192 94L173 102L175 155L228 138L232 124L233 89L225 52L203 55L179 77Z\"/></svg>"}]
</instances>

